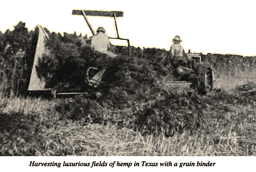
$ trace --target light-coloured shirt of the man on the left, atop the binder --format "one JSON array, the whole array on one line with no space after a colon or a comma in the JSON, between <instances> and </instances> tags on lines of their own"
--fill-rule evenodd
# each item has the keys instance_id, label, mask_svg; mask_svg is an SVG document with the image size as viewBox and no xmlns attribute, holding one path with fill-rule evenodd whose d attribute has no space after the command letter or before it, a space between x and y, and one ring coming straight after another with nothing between
<instances>
[{"instance_id":1,"label":"light-coloured shirt of the man on the left, atop the binder","mask_svg":"<svg viewBox=\"0 0 256 172\"><path fill-rule=\"evenodd\" d=\"M97 35L94 35L92 38L92 48L101 53L108 52L108 47L110 47L110 40L108 35L105 33L99 32Z\"/></svg>"}]
</instances>

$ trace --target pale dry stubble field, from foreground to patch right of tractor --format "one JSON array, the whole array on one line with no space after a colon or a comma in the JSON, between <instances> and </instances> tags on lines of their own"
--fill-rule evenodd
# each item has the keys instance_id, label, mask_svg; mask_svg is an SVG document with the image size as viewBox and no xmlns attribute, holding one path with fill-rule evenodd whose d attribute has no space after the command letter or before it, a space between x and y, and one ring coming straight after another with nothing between
<instances>
[{"instance_id":1,"label":"pale dry stubble field, from foreground to patch right of tractor","mask_svg":"<svg viewBox=\"0 0 256 172\"><path fill-rule=\"evenodd\" d=\"M2 98L0 155L256 156L256 100L255 91L250 92L256 88L255 84L250 83L256 83L255 73L255 68L217 71L215 87L221 91L198 99L206 104L205 108L201 108L202 114L200 112L205 127L197 128L194 132L175 132L171 137L166 137L164 130L159 130L157 134L143 134L134 128L134 124L131 127L131 122L136 119L136 110L133 108L117 110L90 100L84 100L86 105L90 105L86 109L87 106L72 99L47 101L29 97ZM137 112L153 107L151 112L155 114L147 118L147 122L161 129L161 126L157 126L157 120L160 119L157 117L175 109L175 103L180 104L185 100L185 103L194 106L195 102L191 101L195 99L185 94L177 91L179 99L175 101L170 95L159 95L159 100L150 106L136 102L131 106L135 104L135 109L141 108ZM169 99L161 100L163 97ZM69 107L59 110L63 103ZM172 105L169 109L168 104ZM158 112L160 115L157 115ZM74 118L78 113L81 118ZM189 115L184 116L183 113L183 117L189 118ZM157 120L153 121L155 118Z\"/></svg>"}]
</instances>

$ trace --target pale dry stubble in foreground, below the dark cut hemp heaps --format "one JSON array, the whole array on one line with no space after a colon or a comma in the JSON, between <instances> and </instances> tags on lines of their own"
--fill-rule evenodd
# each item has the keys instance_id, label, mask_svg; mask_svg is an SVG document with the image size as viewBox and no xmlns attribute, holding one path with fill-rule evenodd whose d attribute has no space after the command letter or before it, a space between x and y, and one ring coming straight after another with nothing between
<instances>
[{"instance_id":1,"label":"pale dry stubble in foreground, below the dark cut hemp heaps","mask_svg":"<svg viewBox=\"0 0 256 172\"><path fill-rule=\"evenodd\" d=\"M14 156L256 156L256 108L205 111L207 128L165 137L142 136L112 122L61 119L57 102L2 99L0 154ZM109 111L110 113L111 111ZM15 115L15 116L14 116ZM2 123L3 124L3 123Z\"/></svg>"}]
</instances>

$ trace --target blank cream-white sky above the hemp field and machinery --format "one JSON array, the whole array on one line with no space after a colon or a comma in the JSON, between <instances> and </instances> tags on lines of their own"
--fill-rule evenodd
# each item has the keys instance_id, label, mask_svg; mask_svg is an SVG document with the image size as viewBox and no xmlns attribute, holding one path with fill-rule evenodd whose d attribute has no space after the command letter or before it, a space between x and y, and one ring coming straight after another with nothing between
<instances>
[{"instance_id":1,"label":"blank cream-white sky above the hemp field and machinery","mask_svg":"<svg viewBox=\"0 0 256 172\"><path fill-rule=\"evenodd\" d=\"M72 10L122 11L117 17L119 37L135 47L170 50L179 35L185 52L256 56L256 1L5 1L1 2L0 31L13 30L19 21L29 31L39 26L50 32L92 33ZM116 37L114 18L88 16L94 31L104 27ZM125 41L113 44L126 45Z\"/></svg>"}]
</instances>

